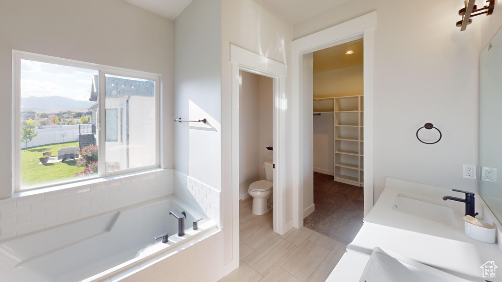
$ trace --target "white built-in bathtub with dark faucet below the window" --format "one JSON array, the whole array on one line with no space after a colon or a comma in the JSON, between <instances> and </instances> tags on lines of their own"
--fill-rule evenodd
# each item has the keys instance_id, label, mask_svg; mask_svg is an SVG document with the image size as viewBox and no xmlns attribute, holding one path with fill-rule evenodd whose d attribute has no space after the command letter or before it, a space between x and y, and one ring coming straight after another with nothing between
<instances>
[{"instance_id":1,"label":"white built-in bathtub with dark faucet below the window","mask_svg":"<svg viewBox=\"0 0 502 282\"><path fill-rule=\"evenodd\" d=\"M178 221L169 215L186 212L186 234L178 237ZM170 250L217 229L206 217L174 195L145 201L63 225L0 241L0 281L103 281L127 276ZM219 229L218 229L219 230ZM155 236L169 233L169 242ZM199 239L200 240L200 239ZM178 248L179 249L179 248Z\"/></svg>"}]
</instances>

